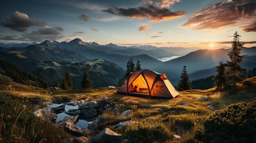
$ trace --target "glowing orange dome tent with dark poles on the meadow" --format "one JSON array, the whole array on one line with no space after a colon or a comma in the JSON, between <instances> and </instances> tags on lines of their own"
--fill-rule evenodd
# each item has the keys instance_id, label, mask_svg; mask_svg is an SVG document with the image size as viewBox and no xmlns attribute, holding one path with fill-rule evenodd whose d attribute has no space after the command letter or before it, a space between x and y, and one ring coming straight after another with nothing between
<instances>
[{"instance_id":1,"label":"glowing orange dome tent with dark poles on the meadow","mask_svg":"<svg viewBox=\"0 0 256 143\"><path fill-rule=\"evenodd\" d=\"M149 98L174 98L180 94L165 74L148 69L130 73L117 93Z\"/></svg>"}]
</instances>

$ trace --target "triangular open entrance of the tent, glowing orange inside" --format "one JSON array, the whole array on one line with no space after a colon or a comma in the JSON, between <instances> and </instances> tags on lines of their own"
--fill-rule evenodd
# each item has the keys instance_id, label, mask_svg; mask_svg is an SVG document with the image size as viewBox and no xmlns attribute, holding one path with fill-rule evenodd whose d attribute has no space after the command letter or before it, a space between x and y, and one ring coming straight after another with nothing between
<instances>
[{"instance_id":1,"label":"triangular open entrance of the tent, glowing orange inside","mask_svg":"<svg viewBox=\"0 0 256 143\"><path fill-rule=\"evenodd\" d=\"M147 82L141 74L129 86L129 92L134 94L149 95L148 91Z\"/></svg>"}]
</instances>

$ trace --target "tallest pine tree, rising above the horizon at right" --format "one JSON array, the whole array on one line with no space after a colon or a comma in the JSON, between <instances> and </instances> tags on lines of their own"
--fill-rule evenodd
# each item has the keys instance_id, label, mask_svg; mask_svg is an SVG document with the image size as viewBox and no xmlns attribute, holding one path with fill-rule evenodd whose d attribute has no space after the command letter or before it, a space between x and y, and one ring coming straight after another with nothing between
<instances>
[{"instance_id":1,"label":"tallest pine tree, rising above the horizon at right","mask_svg":"<svg viewBox=\"0 0 256 143\"><path fill-rule=\"evenodd\" d=\"M227 54L229 55L229 58L231 61L227 61L227 73L229 74L228 77L229 79L233 79L233 88L236 88L236 81L242 81L242 73L245 72L246 70L243 69L239 64L243 60L243 56L240 56L239 54L241 53L241 50L243 48L243 44L240 43L240 38L241 37L237 31L234 33L233 36L233 42L232 42L232 49L231 51Z\"/></svg>"}]
</instances>

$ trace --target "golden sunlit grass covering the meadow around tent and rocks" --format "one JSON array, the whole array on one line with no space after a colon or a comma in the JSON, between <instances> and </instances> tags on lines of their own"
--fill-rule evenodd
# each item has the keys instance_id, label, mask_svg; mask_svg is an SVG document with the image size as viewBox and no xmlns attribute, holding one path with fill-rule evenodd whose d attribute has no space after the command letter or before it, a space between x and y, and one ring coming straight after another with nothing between
<instances>
[{"instance_id":1,"label":"golden sunlit grass covering the meadow around tent and rocks","mask_svg":"<svg viewBox=\"0 0 256 143\"><path fill-rule=\"evenodd\" d=\"M126 96L117 94L117 89L110 88L72 91L58 90L50 92L39 88L37 88L38 90L31 90L29 86L17 83L13 83L12 89L8 88L8 86L0 86L2 88L2 90L0 90L1 98L6 98L5 96L8 95L15 100L15 104L16 102L20 103L20 109L17 112L12 112L12 114L15 116L12 117L12 115L10 115L12 121L9 123L10 128L5 128L5 131L2 128L0 133L1 139L2 141L4 141L4 139L7 141L7 138L10 137L11 128L12 126L14 127L14 119L16 119L18 114L22 111L21 106L23 104L33 105L40 101L61 103L68 100L81 99L101 101L108 98L108 102L110 103L111 107L113 107L115 104L119 105L120 107L118 110L101 112L100 118L106 119L107 121L101 123L98 130L92 135L99 133L103 128L115 130L112 128L112 125L115 125L121 121L132 120L139 123L132 123L128 125L127 128L115 130L115 132L123 134L122 138L128 139L128 141L131 143L196 143L197 140L195 139L195 129L198 129L198 123L206 119L209 114L215 112L216 110L226 108L233 103L251 102L256 99L256 87L248 86L248 82L256 83L256 77L246 79L245 81L246 84L238 84L237 92L232 92L231 90L218 92L215 90L215 88L208 90L187 90L186 92L180 92L181 95L174 99L147 99L142 97ZM13 88L15 90L13 90ZM200 100L200 98L204 97L205 95L207 98ZM0 105L2 109L3 105L1 102ZM213 105L214 109L210 110L207 108L209 105ZM20 140L25 139L30 143L33 142L35 138L35 142L40 142L41 140L42 142L47 142L45 139L48 141L52 139L53 142L57 142L60 139L70 137L70 135L67 135L67 133L65 133L65 131L62 129L58 129L55 126L52 127L49 122L46 123L46 121L42 121L30 115L31 110L32 108L26 109L26 114L23 113L25 111L22 112L22 118L19 118L23 119L25 116L27 116L27 118L22 121L19 119L17 120L19 131L13 133L15 135L12 137L12 140L16 138ZM132 116L119 117L118 115L120 112L124 110L131 110ZM7 124L7 116L9 114L6 114L5 112L2 113L4 113L4 123ZM29 120L30 118L34 119L36 122ZM30 122L32 125L36 124L35 128L38 127L37 132L32 126L29 126L29 128L26 127L25 123ZM47 127L41 127L39 125L41 123L49 125ZM23 127L26 127L24 131L22 131ZM47 128L54 128L54 130L48 131L49 129ZM42 130L44 130L44 134L40 132ZM60 131L56 132L55 130ZM3 131L8 133L7 136L4 136ZM46 131L49 132L49 134L46 134ZM25 133L27 136L25 136ZM36 133L38 134L35 137ZM54 138L51 137L51 134L56 136L59 135L60 137ZM181 139L176 139L174 137L175 134L181 136Z\"/></svg>"}]
</instances>

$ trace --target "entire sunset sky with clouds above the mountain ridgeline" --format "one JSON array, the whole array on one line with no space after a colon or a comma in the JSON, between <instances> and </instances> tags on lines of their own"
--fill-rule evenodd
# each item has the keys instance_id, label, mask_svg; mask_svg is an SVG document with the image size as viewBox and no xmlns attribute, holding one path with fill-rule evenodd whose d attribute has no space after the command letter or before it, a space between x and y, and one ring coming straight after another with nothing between
<instances>
[{"instance_id":1,"label":"entire sunset sky with clouds above the mountain ridgeline","mask_svg":"<svg viewBox=\"0 0 256 143\"><path fill-rule=\"evenodd\" d=\"M119 46L256 46L256 0L5 0L0 42L66 41Z\"/></svg>"}]
</instances>

